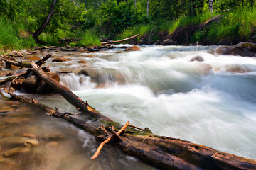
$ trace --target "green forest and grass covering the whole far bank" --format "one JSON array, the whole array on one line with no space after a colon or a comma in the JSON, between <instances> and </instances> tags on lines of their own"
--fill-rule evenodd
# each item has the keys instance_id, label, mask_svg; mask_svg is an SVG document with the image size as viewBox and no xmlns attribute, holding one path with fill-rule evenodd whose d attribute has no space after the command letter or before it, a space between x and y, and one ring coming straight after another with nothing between
<instances>
[{"instance_id":1,"label":"green forest and grass covering the whole far bank","mask_svg":"<svg viewBox=\"0 0 256 170\"><path fill-rule=\"evenodd\" d=\"M148 35L146 42L153 44L164 32L196 26L217 15L220 21L195 29L183 44L255 42L255 4L255 0L0 0L0 47L29 48L38 42L91 46L136 34L140 34L137 42ZM38 33L47 17L49 23Z\"/></svg>"}]
</instances>

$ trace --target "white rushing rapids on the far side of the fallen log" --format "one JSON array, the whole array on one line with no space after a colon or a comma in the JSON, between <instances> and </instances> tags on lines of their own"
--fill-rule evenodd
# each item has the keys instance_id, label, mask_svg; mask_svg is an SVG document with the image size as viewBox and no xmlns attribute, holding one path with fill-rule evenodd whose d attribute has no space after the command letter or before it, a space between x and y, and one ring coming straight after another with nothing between
<instances>
[{"instance_id":1,"label":"white rushing rapids on the far side of the fallen log","mask_svg":"<svg viewBox=\"0 0 256 170\"><path fill-rule=\"evenodd\" d=\"M256 159L256 59L215 55L215 48L96 52L73 58L89 63L92 78L68 74L61 80L119 123ZM191 62L195 56L204 61Z\"/></svg>"}]
</instances>

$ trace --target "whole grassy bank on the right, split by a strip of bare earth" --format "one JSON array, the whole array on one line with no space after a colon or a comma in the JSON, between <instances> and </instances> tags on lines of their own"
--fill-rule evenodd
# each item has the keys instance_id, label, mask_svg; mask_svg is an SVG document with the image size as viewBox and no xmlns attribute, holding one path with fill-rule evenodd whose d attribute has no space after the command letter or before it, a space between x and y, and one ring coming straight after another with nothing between
<instances>
[{"instance_id":1,"label":"whole grassy bank on the right, split by a strip of bare earth","mask_svg":"<svg viewBox=\"0 0 256 170\"><path fill-rule=\"evenodd\" d=\"M203 13L197 16L181 16L174 21L164 21L161 23L149 23L132 28L125 29L116 39L123 39L132 35L140 34L139 40L146 33L151 34L154 31L152 39L159 39L158 33L169 31L172 33L176 28L184 26L193 26L206 22L216 15L222 15L220 22L214 23L210 28L198 30L190 38L190 42L205 42L207 44L219 43L223 40L230 44L242 41L256 42L256 8L243 7L233 11L223 11L219 13Z\"/></svg>"}]
</instances>

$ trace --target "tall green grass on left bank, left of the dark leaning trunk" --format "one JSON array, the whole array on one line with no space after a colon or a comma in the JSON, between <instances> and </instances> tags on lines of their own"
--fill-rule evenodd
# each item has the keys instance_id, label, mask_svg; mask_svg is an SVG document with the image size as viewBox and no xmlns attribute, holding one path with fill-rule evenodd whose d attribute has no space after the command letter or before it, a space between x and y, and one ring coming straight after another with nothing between
<instances>
[{"instance_id":1,"label":"tall green grass on left bank, left of the dark leaning trunk","mask_svg":"<svg viewBox=\"0 0 256 170\"><path fill-rule=\"evenodd\" d=\"M13 23L6 18L0 19L0 48L18 50L36 45L21 23Z\"/></svg>"}]
</instances>

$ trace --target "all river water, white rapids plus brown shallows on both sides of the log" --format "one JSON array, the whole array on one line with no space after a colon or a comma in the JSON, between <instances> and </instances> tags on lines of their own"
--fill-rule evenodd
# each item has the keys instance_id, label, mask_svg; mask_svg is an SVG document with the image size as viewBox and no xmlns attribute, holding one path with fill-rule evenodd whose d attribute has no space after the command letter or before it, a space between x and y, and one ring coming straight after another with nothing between
<instances>
[{"instance_id":1,"label":"all river water, white rapids plus brown shallows on both sides of the log","mask_svg":"<svg viewBox=\"0 0 256 170\"><path fill-rule=\"evenodd\" d=\"M90 54L44 50L38 56L65 57L67 62L50 59L46 65L51 72L73 71L60 74L61 84L118 123L129 120L156 135L256 159L256 59L215 55L216 48L141 46L133 52L114 48ZM203 62L191 62L195 56ZM77 112L58 94L26 96ZM92 135L27 104L0 102L6 111L0 117L0 169L154 169L108 145L92 161L99 145Z\"/></svg>"}]
</instances>

